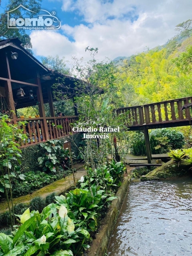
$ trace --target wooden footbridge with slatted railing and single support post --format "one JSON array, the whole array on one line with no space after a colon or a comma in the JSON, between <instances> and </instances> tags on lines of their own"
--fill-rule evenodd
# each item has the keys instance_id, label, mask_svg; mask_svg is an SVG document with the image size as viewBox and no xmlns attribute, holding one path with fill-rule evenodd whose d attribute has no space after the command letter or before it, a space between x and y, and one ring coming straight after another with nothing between
<instances>
[{"instance_id":1,"label":"wooden footbridge with slatted railing and single support post","mask_svg":"<svg viewBox=\"0 0 192 256\"><path fill-rule=\"evenodd\" d=\"M167 100L146 105L117 109L117 114L128 114L128 127L131 131L143 130L148 163L151 163L151 148L148 129L191 125L192 109L184 105L192 103L192 97Z\"/></svg>"}]
</instances>

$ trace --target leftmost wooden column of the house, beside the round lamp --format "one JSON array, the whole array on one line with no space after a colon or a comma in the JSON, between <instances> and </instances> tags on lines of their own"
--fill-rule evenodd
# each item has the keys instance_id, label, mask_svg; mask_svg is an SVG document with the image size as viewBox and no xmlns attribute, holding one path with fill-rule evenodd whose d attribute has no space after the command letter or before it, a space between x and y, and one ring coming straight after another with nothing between
<instances>
[{"instance_id":1,"label":"leftmost wooden column of the house, beside the round lamp","mask_svg":"<svg viewBox=\"0 0 192 256\"><path fill-rule=\"evenodd\" d=\"M8 77L8 79L12 79L7 53L6 53L6 64L7 64L6 65L7 77ZM6 91L6 100L7 100L10 118L12 118L14 123L16 123L15 102L13 100L12 84L11 84L11 81L9 81L9 80L5 81L5 91ZM14 112L11 112L11 111L14 111Z\"/></svg>"}]
</instances>

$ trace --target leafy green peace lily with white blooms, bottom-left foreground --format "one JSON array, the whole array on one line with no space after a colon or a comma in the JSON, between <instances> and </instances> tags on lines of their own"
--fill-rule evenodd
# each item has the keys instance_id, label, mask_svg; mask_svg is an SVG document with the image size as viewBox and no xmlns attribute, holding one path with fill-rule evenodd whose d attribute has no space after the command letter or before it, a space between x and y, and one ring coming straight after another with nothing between
<instances>
[{"instance_id":1,"label":"leafy green peace lily with white blooms, bottom-left foreground","mask_svg":"<svg viewBox=\"0 0 192 256\"><path fill-rule=\"evenodd\" d=\"M19 216L21 226L16 227L13 236L0 234L0 255L73 256L72 250L79 253L88 247L84 242L90 235L75 227L68 214L60 204L49 204L41 214L38 211L30 213L28 208Z\"/></svg>"}]
</instances>

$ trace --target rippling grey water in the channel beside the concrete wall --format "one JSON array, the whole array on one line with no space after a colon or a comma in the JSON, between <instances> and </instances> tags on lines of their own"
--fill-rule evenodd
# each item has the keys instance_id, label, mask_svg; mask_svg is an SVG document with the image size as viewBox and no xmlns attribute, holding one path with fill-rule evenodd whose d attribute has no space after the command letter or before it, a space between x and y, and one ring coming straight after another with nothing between
<instances>
[{"instance_id":1,"label":"rippling grey water in the channel beside the concrete wall","mask_svg":"<svg viewBox=\"0 0 192 256\"><path fill-rule=\"evenodd\" d=\"M192 178L132 182L108 256L192 255Z\"/></svg>"}]
</instances>

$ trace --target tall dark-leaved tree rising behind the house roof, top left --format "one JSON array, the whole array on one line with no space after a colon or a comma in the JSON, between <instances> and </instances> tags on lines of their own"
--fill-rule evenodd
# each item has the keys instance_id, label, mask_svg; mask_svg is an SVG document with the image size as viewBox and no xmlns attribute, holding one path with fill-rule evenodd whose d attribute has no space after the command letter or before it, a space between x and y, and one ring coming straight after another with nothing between
<instances>
[{"instance_id":1,"label":"tall dark-leaved tree rising behind the house roof, top left","mask_svg":"<svg viewBox=\"0 0 192 256\"><path fill-rule=\"evenodd\" d=\"M34 15L38 14L41 8L42 0L9 0L5 10L2 14L0 14L0 40L3 39L11 39L11 38L19 38L23 44L23 47L26 49L31 49L31 39L29 35L26 34L24 29L9 29L7 23L7 12L17 8L20 4L25 6L27 9L31 10L29 12L29 17L33 17ZM0 1L1 4L1 1ZM14 12L11 17L17 19L21 17L22 13L20 9ZM30 50L29 50L30 51ZM30 51L31 52L31 51Z\"/></svg>"}]
</instances>

